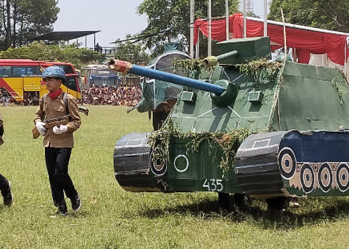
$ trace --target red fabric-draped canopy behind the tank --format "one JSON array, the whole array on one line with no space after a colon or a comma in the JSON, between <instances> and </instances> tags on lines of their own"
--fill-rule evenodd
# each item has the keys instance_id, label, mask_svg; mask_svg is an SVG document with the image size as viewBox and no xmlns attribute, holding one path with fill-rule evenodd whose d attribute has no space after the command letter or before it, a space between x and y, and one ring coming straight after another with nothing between
<instances>
[{"instance_id":1,"label":"red fabric-draped canopy behind the tank","mask_svg":"<svg viewBox=\"0 0 349 249\"><path fill-rule=\"evenodd\" d=\"M301 25L285 23L286 45L296 48L299 63L309 63L310 54L327 54L331 61L345 65L349 56L347 36L349 34L320 28L310 28ZM198 31L208 37L208 20L197 19L194 23L194 44L198 40ZM229 33L233 38L243 37L243 15L235 13L229 16ZM247 37L263 36L264 23L262 19L247 17ZM270 37L271 48L276 50L284 44L283 23L268 20L267 34ZM226 40L226 21L211 21L211 38L217 41Z\"/></svg>"}]
</instances>

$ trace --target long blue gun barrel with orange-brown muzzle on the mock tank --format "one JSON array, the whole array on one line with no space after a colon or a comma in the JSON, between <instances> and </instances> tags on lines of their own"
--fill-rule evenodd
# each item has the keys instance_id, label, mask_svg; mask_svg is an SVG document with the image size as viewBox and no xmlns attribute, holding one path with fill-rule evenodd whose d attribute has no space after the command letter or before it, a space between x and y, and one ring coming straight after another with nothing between
<instances>
[{"instance_id":1,"label":"long blue gun barrel with orange-brown muzzle on the mock tank","mask_svg":"<svg viewBox=\"0 0 349 249\"><path fill-rule=\"evenodd\" d=\"M158 70L154 70L146 67L133 65L126 61L113 59L109 62L109 66L113 70L122 72L123 74L132 73L140 76L149 77L151 79L161 80L161 81L170 82L170 83L174 83L181 86L199 89L202 91L214 93L216 95L221 95L225 91L223 87L218 85L214 85L211 83L206 83L199 80L194 80L191 78L186 78L183 76L170 74L170 73L166 73L166 72L162 72L162 71L158 71Z\"/></svg>"}]
</instances>

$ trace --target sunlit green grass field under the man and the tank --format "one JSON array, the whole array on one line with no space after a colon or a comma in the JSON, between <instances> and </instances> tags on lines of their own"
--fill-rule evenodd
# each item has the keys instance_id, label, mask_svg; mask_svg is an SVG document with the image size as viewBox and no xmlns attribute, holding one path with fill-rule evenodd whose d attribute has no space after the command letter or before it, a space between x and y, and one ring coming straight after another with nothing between
<instances>
[{"instance_id":1,"label":"sunlit green grass field under the man and the tank","mask_svg":"<svg viewBox=\"0 0 349 249\"><path fill-rule=\"evenodd\" d=\"M0 107L5 143L0 172L13 185L10 208L0 204L0 248L275 249L348 248L349 199L308 198L282 215L263 201L245 211L219 212L214 193L129 193L116 182L113 149L130 132L151 131L147 114L91 106L75 132L69 172L83 203L55 217L42 147L33 140L34 107ZM68 201L68 203L70 203Z\"/></svg>"}]
</instances>

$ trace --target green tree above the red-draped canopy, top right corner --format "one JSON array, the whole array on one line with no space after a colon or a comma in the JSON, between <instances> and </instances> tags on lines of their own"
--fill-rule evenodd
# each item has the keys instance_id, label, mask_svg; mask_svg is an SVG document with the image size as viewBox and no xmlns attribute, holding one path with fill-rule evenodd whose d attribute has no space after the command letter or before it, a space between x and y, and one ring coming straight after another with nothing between
<instances>
[{"instance_id":1,"label":"green tree above the red-draped canopy, top right corner","mask_svg":"<svg viewBox=\"0 0 349 249\"><path fill-rule=\"evenodd\" d=\"M349 32L349 0L273 0L269 19L305 26Z\"/></svg>"}]
</instances>

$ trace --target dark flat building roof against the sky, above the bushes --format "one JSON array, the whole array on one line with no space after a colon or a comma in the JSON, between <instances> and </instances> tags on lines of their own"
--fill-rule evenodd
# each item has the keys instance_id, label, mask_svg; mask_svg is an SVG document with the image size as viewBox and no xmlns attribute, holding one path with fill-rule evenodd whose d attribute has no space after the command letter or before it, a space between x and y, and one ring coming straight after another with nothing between
<instances>
[{"instance_id":1,"label":"dark flat building roof against the sky, above the bushes","mask_svg":"<svg viewBox=\"0 0 349 249\"><path fill-rule=\"evenodd\" d=\"M100 31L101 30L98 30L98 31L53 31L47 34L29 38L28 40L29 41L34 41L34 40L67 41L67 40L72 40L79 37L87 36L90 34L95 34Z\"/></svg>"}]
</instances>

